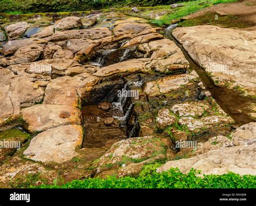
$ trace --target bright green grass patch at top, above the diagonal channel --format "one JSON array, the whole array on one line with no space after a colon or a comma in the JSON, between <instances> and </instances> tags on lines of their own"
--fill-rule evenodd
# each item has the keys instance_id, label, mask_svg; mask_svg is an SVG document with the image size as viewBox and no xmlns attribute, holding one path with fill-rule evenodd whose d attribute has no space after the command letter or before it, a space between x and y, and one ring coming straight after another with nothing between
<instances>
[{"instance_id":1,"label":"bright green grass patch at top, above the diagonal channel","mask_svg":"<svg viewBox=\"0 0 256 206\"><path fill-rule=\"evenodd\" d=\"M232 3L237 2L238 0L198 0L198 1L190 1L190 2L182 2L183 7L173 9L173 12L164 15L158 20L152 20L151 22L157 24L159 26L163 26L164 24L170 25L173 19L179 20L182 17L190 15L196 11L209 7L211 5L220 4L220 3Z\"/></svg>"}]
</instances>

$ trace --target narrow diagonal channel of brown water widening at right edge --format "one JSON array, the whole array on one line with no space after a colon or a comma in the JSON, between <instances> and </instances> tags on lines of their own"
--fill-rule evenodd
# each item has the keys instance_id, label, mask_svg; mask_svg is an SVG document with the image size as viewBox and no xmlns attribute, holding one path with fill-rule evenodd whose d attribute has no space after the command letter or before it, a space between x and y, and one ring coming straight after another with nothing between
<instances>
[{"instance_id":1,"label":"narrow diagonal channel of brown water widening at right edge","mask_svg":"<svg viewBox=\"0 0 256 206\"><path fill-rule=\"evenodd\" d=\"M235 124L234 127L241 126L250 122L255 122L250 116L246 113L250 112L248 109L248 103L256 103L256 100L243 97L238 93L235 93L232 89L221 88L214 84L212 79L208 77L206 71L201 68L187 53L187 51L172 35L172 30L176 27L176 25L171 25L165 29L164 36L172 41L181 49L185 58L190 63L190 68L195 70L199 75L201 81L204 83L205 87L211 92L212 97L217 101L220 107L230 115L234 120ZM240 111L240 112L237 112Z\"/></svg>"}]
</instances>

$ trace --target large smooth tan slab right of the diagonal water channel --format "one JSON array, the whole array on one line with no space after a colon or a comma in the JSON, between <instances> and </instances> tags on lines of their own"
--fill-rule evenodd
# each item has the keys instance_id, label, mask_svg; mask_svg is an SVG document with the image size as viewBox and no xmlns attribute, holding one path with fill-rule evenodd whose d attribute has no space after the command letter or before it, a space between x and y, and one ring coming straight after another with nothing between
<instances>
[{"instance_id":1,"label":"large smooth tan slab right of the diagonal water channel","mask_svg":"<svg viewBox=\"0 0 256 206\"><path fill-rule=\"evenodd\" d=\"M183 44L191 58L199 63L217 85L230 83L248 95L256 94L255 31L218 26L179 27L173 36Z\"/></svg>"}]
</instances>

